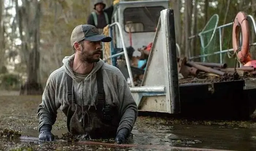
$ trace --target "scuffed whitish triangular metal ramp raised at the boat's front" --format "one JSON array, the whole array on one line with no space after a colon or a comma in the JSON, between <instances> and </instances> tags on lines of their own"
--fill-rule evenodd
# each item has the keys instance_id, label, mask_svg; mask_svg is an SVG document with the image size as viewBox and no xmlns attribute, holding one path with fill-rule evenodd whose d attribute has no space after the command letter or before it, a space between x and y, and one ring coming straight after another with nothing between
<instances>
[{"instance_id":1,"label":"scuffed whitish triangular metal ramp raised at the boat's front","mask_svg":"<svg viewBox=\"0 0 256 151\"><path fill-rule=\"evenodd\" d=\"M179 113L173 9L164 9L158 22L142 86L131 87L139 111Z\"/></svg>"}]
</instances>

